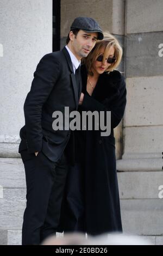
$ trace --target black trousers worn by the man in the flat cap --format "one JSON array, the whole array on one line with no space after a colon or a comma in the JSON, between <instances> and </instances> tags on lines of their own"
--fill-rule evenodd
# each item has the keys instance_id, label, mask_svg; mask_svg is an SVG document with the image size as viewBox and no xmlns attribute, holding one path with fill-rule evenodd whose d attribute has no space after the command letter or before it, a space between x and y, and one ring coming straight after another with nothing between
<instances>
[{"instance_id":1,"label":"black trousers worn by the man in the flat cap","mask_svg":"<svg viewBox=\"0 0 163 256\"><path fill-rule=\"evenodd\" d=\"M39 245L56 234L67 175L65 154L57 162L45 154L21 152L27 184L27 206L23 216L22 245Z\"/></svg>"}]
</instances>

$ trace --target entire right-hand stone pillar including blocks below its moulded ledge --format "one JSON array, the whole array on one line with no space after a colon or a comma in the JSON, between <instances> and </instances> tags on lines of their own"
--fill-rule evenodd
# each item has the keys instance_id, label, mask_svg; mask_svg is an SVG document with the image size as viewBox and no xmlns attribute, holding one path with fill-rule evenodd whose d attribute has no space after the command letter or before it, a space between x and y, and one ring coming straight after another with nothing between
<instances>
[{"instance_id":1,"label":"entire right-hand stone pillar including blocks below its moulded ledge","mask_svg":"<svg viewBox=\"0 0 163 256\"><path fill-rule=\"evenodd\" d=\"M126 1L127 107L117 161L123 231L163 243L163 2Z\"/></svg>"}]
</instances>

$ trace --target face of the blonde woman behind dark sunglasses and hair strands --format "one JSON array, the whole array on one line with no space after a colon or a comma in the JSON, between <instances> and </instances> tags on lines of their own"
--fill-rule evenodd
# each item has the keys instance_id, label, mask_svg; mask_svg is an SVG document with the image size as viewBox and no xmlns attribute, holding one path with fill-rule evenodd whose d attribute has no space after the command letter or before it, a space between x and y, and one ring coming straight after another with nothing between
<instances>
[{"instance_id":1,"label":"face of the blonde woman behind dark sunglasses and hair strands","mask_svg":"<svg viewBox=\"0 0 163 256\"><path fill-rule=\"evenodd\" d=\"M101 48L99 50L98 56L103 55L104 51L105 51L105 47ZM114 57L114 52L115 52L115 49L113 46L111 46L108 50L108 53L106 54L106 59L104 60L104 62L99 62L98 60L95 60L95 62L93 62L91 70L94 75L101 75L103 74L103 72L105 72L106 69L108 69L108 67L111 64L107 62L107 59Z\"/></svg>"}]
</instances>

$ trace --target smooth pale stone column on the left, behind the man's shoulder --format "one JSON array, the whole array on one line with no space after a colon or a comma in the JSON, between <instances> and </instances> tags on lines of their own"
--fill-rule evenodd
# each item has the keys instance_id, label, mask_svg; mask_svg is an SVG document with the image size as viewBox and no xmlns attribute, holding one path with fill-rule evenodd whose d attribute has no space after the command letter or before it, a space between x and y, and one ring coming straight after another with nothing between
<instances>
[{"instance_id":1,"label":"smooth pale stone column on the left, behind the man's shoulder","mask_svg":"<svg viewBox=\"0 0 163 256\"><path fill-rule=\"evenodd\" d=\"M0 157L18 157L23 104L39 60L52 52L52 0L0 3Z\"/></svg>"}]
</instances>

